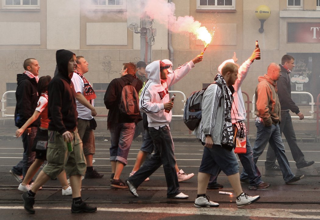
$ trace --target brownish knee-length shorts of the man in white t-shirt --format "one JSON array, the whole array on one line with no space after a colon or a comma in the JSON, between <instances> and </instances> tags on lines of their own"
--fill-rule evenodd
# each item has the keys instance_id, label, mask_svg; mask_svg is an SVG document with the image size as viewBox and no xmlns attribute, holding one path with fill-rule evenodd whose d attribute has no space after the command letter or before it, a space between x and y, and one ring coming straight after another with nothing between
<instances>
[{"instance_id":1,"label":"brownish knee-length shorts of the man in white t-shirt","mask_svg":"<svg viewBox=\"0 0 320 220\"><path fill-rule=\"evenodd\" d=\"M96 146L94 144L94 133L90 128L90 120L78 118L78 134L82 140L82 148L84 156L96 153Z\"/></svg>"}]
</instances>

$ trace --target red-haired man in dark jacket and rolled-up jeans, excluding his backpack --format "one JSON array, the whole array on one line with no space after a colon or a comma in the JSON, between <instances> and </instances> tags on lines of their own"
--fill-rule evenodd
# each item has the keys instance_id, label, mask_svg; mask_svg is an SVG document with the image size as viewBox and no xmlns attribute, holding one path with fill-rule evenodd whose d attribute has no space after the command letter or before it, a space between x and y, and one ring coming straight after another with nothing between
<instances>
[{"instance_id":1,"label":"red-haired man in dark jacket and rolled-up jeans, excluding his backpack","mask_svg":"<svg viewBox=\"0 0 320 220\"><path fill-rule=\"evenodd\" d=\"M128 116L120 111L122 89L126 85L134 85L137 93L142 88L142 81L136 77L136 65L124 63L120 78L113 79L104 95L104 104L109 110L107 126L111 134L110 161L111 187L125 189L128 186L120 179L120 175L128 161L128 153L133 140L135 123L141 120L139 116ZM138 103L137 103L138 104Z\"/></svg>"}]
</instances>

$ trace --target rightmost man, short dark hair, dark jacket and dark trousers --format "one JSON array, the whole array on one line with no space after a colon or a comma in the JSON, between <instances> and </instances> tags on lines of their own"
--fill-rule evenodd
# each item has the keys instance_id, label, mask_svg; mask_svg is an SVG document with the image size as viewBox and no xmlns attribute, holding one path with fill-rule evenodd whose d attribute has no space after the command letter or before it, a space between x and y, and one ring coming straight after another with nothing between
<instances>
[{"instance_id":1,"label":"rightmost man, short dark hair, dark jacket and dark trousers","mask_svg":"<svg viewBox=\"0 0 320 220\"><path fill-rule=\"evenodd\" d=\"M298 169L303 167L311 166L315 163L315 161L306 161L304 159L304 154L300 150L297 144L296 134L294 133L290 110L299 116L300 120L304 118L303 113L299 110L299 107L292 100L291 97L291 78L290 73L295 67L294 58L290 55L284 55L281 59L281 64L279 64L281 68L281 76L277 81L278 88L278 96L279 102L281 106L281 123L280 127L280 135L283 133L285 139L288 142L292 157L294 161L296 161L296 166ZM272 148L268 147L267 151L267 160L265 162L265 167L267 170L280 170L280 167L276 165L276 155Z\"/></svg>"}]
</instances>

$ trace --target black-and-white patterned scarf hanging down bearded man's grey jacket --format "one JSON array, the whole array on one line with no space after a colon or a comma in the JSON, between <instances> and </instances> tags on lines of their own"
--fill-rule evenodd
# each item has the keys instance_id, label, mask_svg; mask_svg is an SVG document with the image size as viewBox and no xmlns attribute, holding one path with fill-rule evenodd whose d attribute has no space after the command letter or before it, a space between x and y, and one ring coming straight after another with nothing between
<instances>
[{"instance_id":1,"label":"black-and-white patterned scarf hanging down bearded man's grey jacket","mask_svg":"<svg viewBox=\"0 0 320 220\"><path fill-rule=\"evenodd\" d=\"M233 102L232 95L230 96L228 93L228 87L226 81L220 74L217 74L214 80L217 83L222 84L223 86L223 95L224 95L224 106L225 106L225 113L224 113L224 124L222 128L222 141L221 146L226 148L229 151L232 151L235 142L235 136L233 133L233 127L231 122L231 104Z\"/></svg>"}]
</instances>

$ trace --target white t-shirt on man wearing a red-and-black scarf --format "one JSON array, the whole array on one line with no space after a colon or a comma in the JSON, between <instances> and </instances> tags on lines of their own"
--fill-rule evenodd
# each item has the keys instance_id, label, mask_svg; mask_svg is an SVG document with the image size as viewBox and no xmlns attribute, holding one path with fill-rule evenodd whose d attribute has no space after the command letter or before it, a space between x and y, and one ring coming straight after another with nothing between
<instances>
[{"instance_id":1,"label":"white t-shirt on man wearing a red-and-black scarf","mask_svg":"<svg viewBox=\"0 0 320 220\"><path fill-rule=\"evenodd\" d=\"M82 78L78 74L74 73L71 80L73 82L73 85L75 86L76 93L80 92L81 94L84 94L83 93L84 82ZM92 99L91 103L92 103L92 106L94 106L94 99ZM86 119L86 120L90 120L93 118L91 115L91 110L85 107L84 105L82 105L80 102L78 102L77 99L76 99L76 105L77 105L78 118Z\"/></svg>"}]
</instances>

